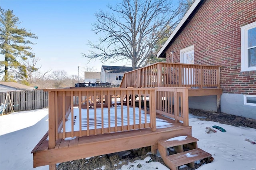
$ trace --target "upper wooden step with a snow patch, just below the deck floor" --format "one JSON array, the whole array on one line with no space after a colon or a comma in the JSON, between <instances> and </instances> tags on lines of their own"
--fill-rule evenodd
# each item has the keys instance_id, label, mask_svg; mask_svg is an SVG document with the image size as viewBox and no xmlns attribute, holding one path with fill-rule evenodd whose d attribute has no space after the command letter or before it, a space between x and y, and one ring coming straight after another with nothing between
<instances>
[{"instance_id":1,"label":"upper wooden step with a snow patch, just below the deck floor","mask_svg":"<svg viewBox=\"0 0 256 170\"><path fill-rule=\"evenodd\" d=\"M159 140L158 141L158 151L161 156L168 156L167 148L173 147L177 153L183 152L183 146L186 146L191 149L197 148L197 138L194 138L190 135L185 135L186 138L184 140L171 140L168 139Z\"/></svg>"}]
</instances>

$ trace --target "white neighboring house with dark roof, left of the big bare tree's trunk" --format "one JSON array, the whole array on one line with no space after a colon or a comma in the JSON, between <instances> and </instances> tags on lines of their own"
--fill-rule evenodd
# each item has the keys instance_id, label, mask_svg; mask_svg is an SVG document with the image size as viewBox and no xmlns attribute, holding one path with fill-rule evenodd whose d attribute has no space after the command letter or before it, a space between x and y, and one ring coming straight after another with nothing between
<instances>
[{"instance_id":1,"label":"white neighboring house with dark roof, left of the big bare tree's trunk","mask_svg":"<svg viewBox=\"0 0 256 170\"><path fill-rule=\"evenodd\" d=\"M132 67L102 65L100 71L100 82L118 85L121 83L124 73L128 71L132 71Z\"/></svg>"}]
</instances>

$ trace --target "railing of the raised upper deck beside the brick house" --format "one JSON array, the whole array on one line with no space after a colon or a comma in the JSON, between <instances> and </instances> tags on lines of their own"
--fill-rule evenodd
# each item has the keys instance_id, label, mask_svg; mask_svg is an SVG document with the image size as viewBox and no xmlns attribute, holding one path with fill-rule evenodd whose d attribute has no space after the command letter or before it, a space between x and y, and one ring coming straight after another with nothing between
<instances>
[{"instance_id":1,"label":"railing of the raised upper deck beside the brick house","mask_svg":"<svg viewBox=\"0 0 256 170\"><path fill-rule=\"evenodd\" d=\"M220 66L158 62L125 73L120 87L220 88Z\"/></svg>"}]
</instances>

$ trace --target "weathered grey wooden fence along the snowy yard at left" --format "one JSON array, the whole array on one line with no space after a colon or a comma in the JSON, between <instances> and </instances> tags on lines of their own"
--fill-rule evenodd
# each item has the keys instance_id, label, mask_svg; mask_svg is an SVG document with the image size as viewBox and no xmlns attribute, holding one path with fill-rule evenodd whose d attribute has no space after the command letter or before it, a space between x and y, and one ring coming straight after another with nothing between
<instances>
[{"instance_id":1,"label":"weathered grey wooden fence along the snowy yard at left","mask_svg":"<svg viewBox=\"0 0 256 170\"><path fill-rule=\"evenodd\" d=\"M5 102L7 93L10 94L11 101L7 98L6 103L13 105L14 111L28 111L48 107L47 91L35 89L24 91L0 92L0 103Z\"/></svg>"}]
</instances>

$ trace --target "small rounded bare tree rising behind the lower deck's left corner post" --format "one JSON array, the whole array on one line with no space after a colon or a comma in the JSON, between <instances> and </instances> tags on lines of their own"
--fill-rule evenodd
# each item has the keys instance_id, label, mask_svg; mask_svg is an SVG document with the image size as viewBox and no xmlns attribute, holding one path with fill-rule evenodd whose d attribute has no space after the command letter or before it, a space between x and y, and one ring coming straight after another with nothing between
<instances>
[{"instance_id":1,"label":"small rounded bare tree rising behind the lower deck's left corner post","mask_svg":"<svg viewBox=\"0 0 256 170\"><path fill-rule=\"evenodd\" d=\"M67 72L64 70L52 71L50 78L54 80L54 87L61 88L64 87L65 81L67 79Z\"/></svg>"}]
</instances>

